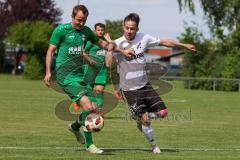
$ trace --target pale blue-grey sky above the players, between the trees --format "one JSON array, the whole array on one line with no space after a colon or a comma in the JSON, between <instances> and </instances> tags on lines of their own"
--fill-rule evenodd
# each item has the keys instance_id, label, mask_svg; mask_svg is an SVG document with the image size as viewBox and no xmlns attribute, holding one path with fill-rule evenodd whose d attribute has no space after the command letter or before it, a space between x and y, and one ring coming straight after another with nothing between
<instances>
[{"instance_id":1,"label":"pale blue-grey sky above the players, between the trees","mask_svg":"<svg viewBox=\"0 0 240 160\"><path fill-rule=\"evenodd\" d=\"M72 8L78 3L89 10L86 25L93 28L97 22L123 20L126 15L136 12L140 15L139 32L160 38L176 38L184 32L185 23L196 22L200 31L208 34L203 11L196 2L196 14L179 12L177 0L55 0L62 12L62 23L71 21Z\"/></svg>"}]
</instances>

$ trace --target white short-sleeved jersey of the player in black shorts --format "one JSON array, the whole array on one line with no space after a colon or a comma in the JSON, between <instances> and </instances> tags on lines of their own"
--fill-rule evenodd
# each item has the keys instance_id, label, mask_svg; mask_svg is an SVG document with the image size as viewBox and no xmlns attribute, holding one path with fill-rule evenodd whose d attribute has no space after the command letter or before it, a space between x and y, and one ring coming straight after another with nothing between
<instances>
[{"instance_id":1,"label":"white short-sleeved jersey of the player in black shorts","mask_svg":"<svg viewBox=\"0 0 240 160\"><path fill-rule=\"evenodd\" d=\"M135 55L131 57L126 57L122 53L114 53L118 63L120 89L129 91L144 87L148 82L144 52L149 47L159 45L160 39L144 33L137 33L132 41L128 41L122 36L114 42L120 49L133 48L135 51Z\"/></svg>"}]
</instances>

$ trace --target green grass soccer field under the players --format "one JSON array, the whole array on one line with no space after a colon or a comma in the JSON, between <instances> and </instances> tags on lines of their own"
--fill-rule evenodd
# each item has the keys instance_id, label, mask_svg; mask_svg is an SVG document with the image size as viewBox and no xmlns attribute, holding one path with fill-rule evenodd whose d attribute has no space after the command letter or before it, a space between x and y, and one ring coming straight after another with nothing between
<instances>
[{"instance_id":1,"label":"green grass soccer field under the players","mask_svg":"<svg viewBox=\"0 0 240 160\"><path fill-rule=\"evenodd\" d=\"M55 105L66 96L41 81L0 75L0 159L240 159L240 93L173 85L174 90L162 96L169 117L153 122L161 154L151 153L135 122L126 119L126 107L119 104L106 115L103 131L94 134L105 153L91 155L69 133L69 122L55 116Z\"/></svg>"}]
</instances>

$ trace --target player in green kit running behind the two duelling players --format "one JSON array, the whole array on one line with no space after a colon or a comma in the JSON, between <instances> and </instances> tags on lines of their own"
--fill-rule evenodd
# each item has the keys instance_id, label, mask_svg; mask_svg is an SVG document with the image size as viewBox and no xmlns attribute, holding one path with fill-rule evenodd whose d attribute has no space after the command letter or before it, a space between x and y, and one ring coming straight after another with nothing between
<instances>
[{"instance_id":1,"label":"player in green kit running behind the two duelling players","mask_svg":"<svg viewBox=\"0 0 240 160\"><path fill-rule=\"evenodd\" d=\"M95 34L104 41L111 41L110 36L108 34L105 35L105 25L102 23L97 23L94 26ZM97 101L97 110L99 113L101 112L103 106L103 90L105 88L105 84L107 82L107 67L105 65L105 55L107 51L105 49L100 48L98 45L88 41L83 52L83 57L88 61L88 65L84 66L84 76L83 81L88 83L92 88L94 88L95 97ZM80 108L80 106L75 106L76 108ZM93 113L95 111L89 110L86 111L85 115L80 115L86 117L88 114ZM79 129L78 126L77 129ZM83 130L87 132L86 128L83 127ZM91 135L91 132L88 133ZM78 139L78 134L75 134ZM86 136L86 145L87 147L93 144L92 136Z\"/></svg>"}]
</instances>

